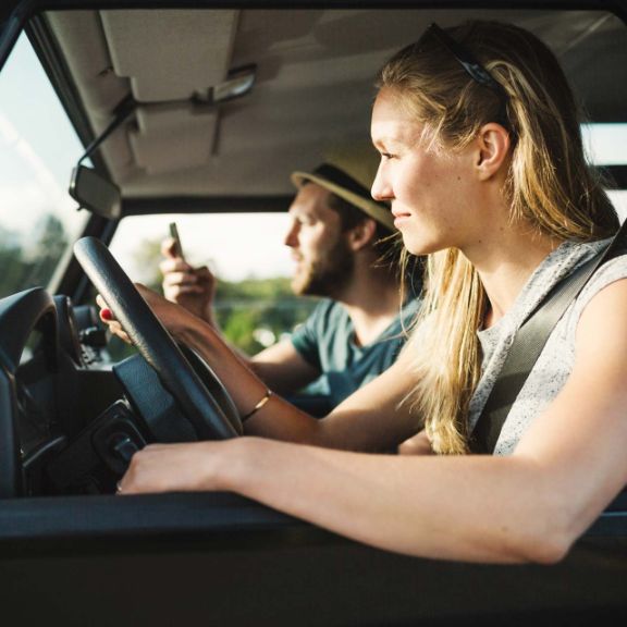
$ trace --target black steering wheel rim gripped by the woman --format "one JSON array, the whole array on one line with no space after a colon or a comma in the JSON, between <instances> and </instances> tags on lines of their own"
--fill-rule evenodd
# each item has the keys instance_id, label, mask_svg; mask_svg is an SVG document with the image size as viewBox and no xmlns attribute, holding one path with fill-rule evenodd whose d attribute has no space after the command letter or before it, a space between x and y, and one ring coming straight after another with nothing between
<instances>
[{"instance_id":1,"label":"black steering wheel rim gripped by the woman","mask_svg":"<svg viewBox=\"0 0 627 627\"><path fill-rule=\"evenodd\" d=\"M206 385L170 333L159 322L109 249L96 237L74 245L76 259L102 295L139 354L155 369L199 440L225 440L242 434L242 421L231 396L205 365ZM213 395L210 388L219 389Z\"/></svg>"}]
</instances>

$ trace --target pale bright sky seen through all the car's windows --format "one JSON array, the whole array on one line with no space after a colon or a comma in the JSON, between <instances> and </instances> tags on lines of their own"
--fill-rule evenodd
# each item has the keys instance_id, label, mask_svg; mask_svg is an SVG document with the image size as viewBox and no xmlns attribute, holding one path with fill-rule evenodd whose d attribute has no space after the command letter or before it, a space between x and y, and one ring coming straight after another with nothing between
<instances>
[{"instance_id":1,"label":"pale bright sky seen through all the car's windows","mask_svg":"<svg viewBox=\"0 0 627 627\"><path fill-rule=\"evenodd\" d=\"M627 163L627 125L583 128L588 155L599 164ZM73 237L86 212L67 194L72 168L83 152L39 62L22 36L0 73L0 228L27 239L38 216L51 212ZM627 192L612 194L627 214ZM287 214L161 216L122 221L112 250L135 280L137 234L151 241L168 235L175 219L192 263L209 263L222 279L288 276L292 261L283 245ZM126 224L125 224L126 222Z\"/></svg>"}]
</instances>

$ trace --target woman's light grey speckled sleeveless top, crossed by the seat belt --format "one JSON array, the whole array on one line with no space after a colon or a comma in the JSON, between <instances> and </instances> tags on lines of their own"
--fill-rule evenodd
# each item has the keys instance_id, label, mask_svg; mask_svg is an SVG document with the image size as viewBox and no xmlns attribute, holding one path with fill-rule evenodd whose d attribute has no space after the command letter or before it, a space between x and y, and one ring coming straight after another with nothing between
<instances>
[{"instance_id":1,"label":"woman's light grey speckled sleeveless top, crossed by the seat belt","mask_svg":"<svg viewBox=\"0 0 627 627\"><path fill-rule=\"evenodd\" d=\"M509 311L490 329L478 332L483 358L481 378L470 401L470 431L481 415L514 335L525 318L553 285L606 247L610 241L563 243L534 270ZM601 266L566 309L507 415L494 448L495 455L508 455L514 451L533 419L542 414L566 383L575 362L577 324L586 305L603 287L625 278L627 255L615 257Z\"/></svg>"}]
</instances>

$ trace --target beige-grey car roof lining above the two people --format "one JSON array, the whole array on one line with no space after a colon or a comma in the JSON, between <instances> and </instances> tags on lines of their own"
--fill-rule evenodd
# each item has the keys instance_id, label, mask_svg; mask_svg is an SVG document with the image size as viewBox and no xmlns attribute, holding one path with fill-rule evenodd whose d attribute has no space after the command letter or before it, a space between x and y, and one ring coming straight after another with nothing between
<instances>
[{"instance_id":1,"label":"beige-grey car roof lining above the two people","mask_svg":"<svg viewBox=\"0 0 627 627\"><path fill-rule=\"evenodd\" d=\"M530 28L551 42L576 90L587 95L593 119L625 118L614 102L625 101L627 83L618 85L610 69L595 62L604 56L614 67L627 66L625 26L603 11L46 13L95 134L125 97L137 101L136 115L100 148L125 200L238 196L261 201L291 195L294 169L316 167L339 138L368 142L372 83L384 60L431 21L446 26L467 17ZM167 29L173 23L180 28L175 36ZM368 52L362 52L365 41ZM251 94L219 107L202 102L211 84L249 63L258 67ZM617 91L612 101L607 84ZM134 212L132 207L125 202L125 213Z\"/></svg>"}]
</instances>

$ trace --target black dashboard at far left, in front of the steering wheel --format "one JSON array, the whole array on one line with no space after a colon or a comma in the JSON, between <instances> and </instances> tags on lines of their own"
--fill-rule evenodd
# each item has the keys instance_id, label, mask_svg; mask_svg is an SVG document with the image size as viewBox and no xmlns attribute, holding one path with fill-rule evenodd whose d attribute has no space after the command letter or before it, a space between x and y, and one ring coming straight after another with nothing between
<instances>
[{"instance_id":1,"label":"black dashboard at far left, in front of the steering wheel","mask_svg":"<svg viewBox=\"0 0 627 627\"><path fill-rule=\"evenodd\" d=\"M123 396L93 306L33 288L0 300L0 494L54 493L47 468Z\"/></svg>"}]
</instances>

